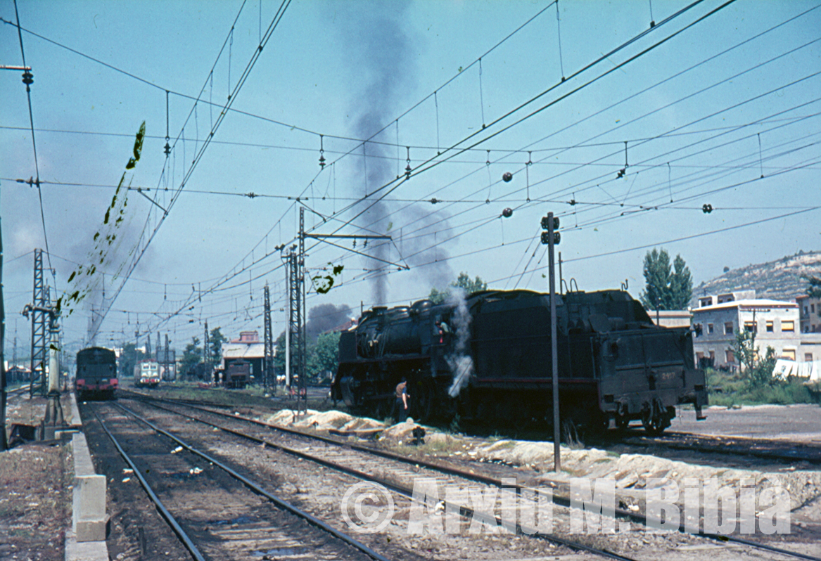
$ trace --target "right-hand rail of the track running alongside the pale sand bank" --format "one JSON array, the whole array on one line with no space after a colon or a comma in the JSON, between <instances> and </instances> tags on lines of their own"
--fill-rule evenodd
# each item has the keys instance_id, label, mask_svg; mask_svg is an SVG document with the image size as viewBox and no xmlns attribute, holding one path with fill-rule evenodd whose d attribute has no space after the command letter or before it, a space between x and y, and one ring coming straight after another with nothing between
<instances>
[{"instance_id":1,"label":"right-hand rail of the track running alongside the pale sand bank","mask_svg":"<svg viewBox=\"0 0 821 561\"><path fill-rule=\"evenodd\" d=\"M166 401L166 402L171 402L171 403L174 402L174 400L172 400L172 399L154 398L154 397L150 397L150 396L145 396L145 397L147 397L147 399L152 400L152 401ZM409 458L407 456L402 456L401 454L395 454L393 452L388 452L388 451L385 451L385 450L373 449L373 448L370 448L369 446L355 445L355 444L351 444L349 442L343 442L341 440L336 440L336 439L333 439L333 438L329 438L328 436L321 436L321 435L310 434L310 433L303 432L303 431L296 431L294 429L290 429L290 428L287 428L287 427L284 427L284 426L277 426L277 425L273 425L273 424L268 423L268 422L257 421L256 419L250 419L248 417L242 417L241 415L232 415L232 414L228 414L228 413L222 413L221 411L212 411L210 409L201 408L201 407L198 407L196 405L191 405L191 404L185 404L185 405L187 407L203 411L204 413L211 413L213 415L220 415L222 417L228 417L228 418L232 418L232 419L241 420L241 421L244 421L244 422L250 422L250 423L253 423L253 424L259 425L259 426L266 426L269 429L272 429L274 431L281 431L281 432L284 432L284 433L287 433L287 434L292 434L292 435L296 435L296 436L303 436L305 438L310 438L310 439L313 439L313 440L320 440L320 441L326 442L328 444L339 446L339 447L342 447L342 448L355 449L355 450L358 450L358 451L361 451L361 452L365 452L366 454L373 454L373 455L376 455L376 456L381 456L383 458L390 458L390 459L396 460L398 462L407 463L407 464L413 465L413 466L419 465L419 466L427 467L429 469L432 469L432 470L435 470L435 471L438 471L438 472L447 473L448 475L452 475L452 476L456 476L456 477L463 477L463 478L469 479L471 481L477 481L479 483L484 483L486 485L492 485L492 486L502 488L502 481L499 481L498 479L494 479L493 477L483 476L483 475L480 475L480 474L477 474L477 473L474 473L474 472L467 472L465 470L461 470L461 469L456 468L456 467L447 467L447 466L440 465L438 463L428 462L428 461L417 459L417 458ZM154 407L157 407L157 406L154 405ZM507 486L506 485L506 486L504 486L504 488L505 489L516 489L519 492L521 492L522 490L533 491L533 489L530 488L530 487L520 486L518 484L516 486ZM569 497L566 497L566 496L555 495L554 494L553 495L553 503L554 504L559 504L560 506L563 506L563 507L566 507L566 508L572 508L572 501ZM647 517L644 514L634 513L634 512L631 512L629 510L625 510L625 509L615 509L614 513L615 513L616 518L628 518L633 522L640 523L644 527L648 526L648 520L647 520ZM753 541L753 540L746 540L745 538L741 538L741 537L729 536L729 535L724 535L724 534L717 534L717 533L714 533L714 532L701 531L701 530L699 530L698 532L686 531L686 527L685 527L684 523L681 523L679 525L678 531L681 534L688 534L688 535L691 535L691 536L699 536L699 537L703 537L703 538L709 539L709 540L717 540L717 541L721 541L721 542L733 542L733 543L737 543L737 544L740 544L740 545L747 545L748 547L753 547L753 548L759 549L759 550L767 550L767 551L772 552L772 553L782 554L782 555L786 555L787 557L792 557L792 558L796 558L796 559L805 559L806 561L821 561L821 557L816 557L816 556L808 555L808 554L802 554L802 553L798 553L796 551L784 550L782 548L778 548L778 547L775 547L773 545L762 544L762 543L759 543L759 542L756 542L756 541Z\"/></svg>"}]
</instances>

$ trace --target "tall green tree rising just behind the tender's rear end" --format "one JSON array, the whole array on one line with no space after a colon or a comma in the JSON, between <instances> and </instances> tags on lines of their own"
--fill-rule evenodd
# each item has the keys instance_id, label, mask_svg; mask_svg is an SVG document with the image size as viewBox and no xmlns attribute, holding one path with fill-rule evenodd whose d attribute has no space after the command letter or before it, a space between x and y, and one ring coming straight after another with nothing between
<instances>
[{"instance_id":1,"label":"tall green tree rising just behind the tender's rear end","mask_svg":"<svg viewBox=\"0 0 821 561\"><path fill-rule=\"evenodd\" d=\"M640 295L644 308L683 310L693 296L693 279L681 255L670 266L666 249L647 252L644 256L644 292Z\"/></svg>"}]
</instances>

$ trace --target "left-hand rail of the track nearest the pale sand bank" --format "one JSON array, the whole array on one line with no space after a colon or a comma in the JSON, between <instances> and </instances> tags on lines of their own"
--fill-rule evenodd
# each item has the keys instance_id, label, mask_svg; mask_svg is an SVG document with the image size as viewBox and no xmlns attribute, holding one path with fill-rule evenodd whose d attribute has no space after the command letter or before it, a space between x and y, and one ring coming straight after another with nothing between
<instances>
[{"instance_id":1,"label":"left-hand rail of the track nearest the pale sand bank","mask_svg":"<svg viewBox=\"0 0 821 561\"><path fill-rule=\"evenodd\" d=\"M331 462L331 461L323 459L323 458L319 458L318 456L314 456L312 454L307 454L305 452L300 452L299 450L288 448L287 446L279 445L275 442L271 442L270 440L264 440L264 439L259 438L257 436L246 435L243 432L234 431L233 429L229 429L226 426L220 426L220 425L217 425L213 422L205 421L204 419L201 419L199 417L194 417L194 416L188 415L186 413L180 413L179 411L174 411L173 409L165 408L161 405L157 405L157 404L150 404L150 405L151 405L151 407L162 409L163 411L167 411L169 413L176 413L177 415L180 415L181 417L186 417L186 418L189 418L193 421L201 422L204 425L212 426L213 428L217 428L220 431L225 431L225 432L227 432L229 434L232 434L234 436L239 436L241 438L251 440L251 441L253 441L257 444L266 445L269 448L280 450L281 452L283 452L285 454L295 456L296 458L306 459L310 462L318 463L321 466L329 467L333 470L336 470L337 472L346 473L347 475L351 475L353 477L361 479L362 481L369 481L369 482L373 482L373 483L378 483L379 485L387 487L388 489L390 489L390 490L392 490L392 491L394 491L394 492L396 492L400 495L404 495L409 499L413 499L413 489L411 489L409 487L397 485L396 483L393 483L392 481L388 481L388 479L384 479L384 478L381 478L381 477L374 477L373 475L371 475L369 473L360 472L359 470L356 470L352 467L346 467L346 466L343 466L341 464L334 463L334 462ZM209 413L213 413L213 412L209 412ZM132 413L132 414L134 414L134 413ZM226 416L229 417L229 418L236 418L237 420L240 420L240 421L248 421L249 420L249 419L247 419L247 417L234 417L232 415L226 415ZM304 436L302 433L298 433L298 434L300 434L300 436ZM417 463L419 463L419 462L417 462ZM508 489L514 489L515 487L508 486L507 488ZM506 527L509 531L512 531L512 532L516 533L516 535L528 536L528 537L532 537L534 539L550 541L550 542L553 542L553 543L558 544L558 545L564 545L564 546L569 547L573 550L583 550L583 551L587 551L587 552L592 553L592 554L597 554L597 555L600 555L600 556L603 556L603 557L607 557L609 559L618 559L619 561L635 561L635 559L632 559L630 557L626 557L626 556L621 555L621 554L617 554L617 553L609 551L609 550L603 550L603 549L595 548L595 547L585 545L585 544L582 544L582 543L579 543L579 542L576 542L576 541L565 540L564 538L556 537L556 536L553 536L553 535L540 534L537 531L536 528L522 526L518 522L511 522L510 520L506 520L506 519L503 519L501 517L498 517L493 513L484 513L484 512L478 511L478 510L469 509L468 507L466 507L464 505L461 505L461 504L448 503L447 501L444 501L444 500L439 501L439 502L441 504L443 504L443 506L445 506L448 509L449 512L458 510L462 517L469 518L469 519L476 518L479 521L484 522L484 523L488 523L490 525L495 524L495 525L498 525L498 526L503 526L503 527Z\"/></svg>"}]
</instances>

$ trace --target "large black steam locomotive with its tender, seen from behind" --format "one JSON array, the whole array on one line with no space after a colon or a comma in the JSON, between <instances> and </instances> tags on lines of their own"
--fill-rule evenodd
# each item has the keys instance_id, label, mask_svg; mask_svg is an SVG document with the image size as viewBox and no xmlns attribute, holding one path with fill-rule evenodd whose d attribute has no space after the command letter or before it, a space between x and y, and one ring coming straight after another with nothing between
<instances>
[{"instance_id":1,"label":"large black steam locomotive with its tender, seen from behind","mask_svg":"<svg viewBox=\"0 0 821 561\"><path fill-rule=\"evenodd\" d=\"M575 291L556 299L562 422L601 430L611 420L620 428L640 420L646 431L659 434L678 404L693 404L703 418L704 371L694 368L689 329L655 326L622 290ZM469 326L455 325L455 303L420 300L365 312L340 337L333 398L387 417L395 412L394 389L406 377L411 417L459 414L497 424L552 424L549 295L485 290L470 294L465 304ZM440 331L438 321L450 332ZM464 356L457 349L460 328L469 330L461 337ZM464 366L466 357L472 372L456 394L453 365Z\"/></svg>"}]
</instances>

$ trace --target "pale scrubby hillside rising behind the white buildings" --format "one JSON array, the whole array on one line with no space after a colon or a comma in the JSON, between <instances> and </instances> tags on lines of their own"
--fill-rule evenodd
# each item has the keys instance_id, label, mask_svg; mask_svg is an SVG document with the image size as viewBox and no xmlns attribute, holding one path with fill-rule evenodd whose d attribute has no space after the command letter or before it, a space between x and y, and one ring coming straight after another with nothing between
<instances>
[{"instance_id":1,"label":"pale scrubby hillside rising behind the white buildings","mask_svg":"<svg viewBox=\"0 0 821 561\"><path fill-rule=\"evenodd\" d=\"M737 290L755 290L756 298L795 300L807 292L801 275L821 276L821 251L803 252L757 265L727 271L713 280L693 287L690 306L699 305L699 296Z\"/></svg>"}]
</instances>

